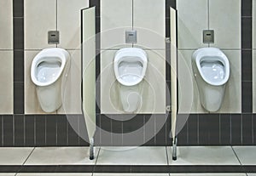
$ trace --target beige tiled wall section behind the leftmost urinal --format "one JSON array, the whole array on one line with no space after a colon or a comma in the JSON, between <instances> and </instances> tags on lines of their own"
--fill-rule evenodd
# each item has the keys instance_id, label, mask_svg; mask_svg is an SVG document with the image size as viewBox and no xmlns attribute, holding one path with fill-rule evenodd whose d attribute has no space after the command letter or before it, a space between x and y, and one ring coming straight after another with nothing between
<instances>
[{"instance_id":1,"label":"beige tiled wall section behind the leftmost urinal","mask_svg":"<svg viewBox=\"0 0 256 176\"><path fill-rule=\"evenodd\" d=\"M57 114L79 114L80 106L80 10L89 6L88 1L46 0L24 1L25 48L25 114L44 114L38 104L36 87L31 81L32 60L43 48L65 48L71 54L71 69L63 95L63 105ZM48 31L60 31L60 43L48 44Z\"/></svg>"}]
</instances>

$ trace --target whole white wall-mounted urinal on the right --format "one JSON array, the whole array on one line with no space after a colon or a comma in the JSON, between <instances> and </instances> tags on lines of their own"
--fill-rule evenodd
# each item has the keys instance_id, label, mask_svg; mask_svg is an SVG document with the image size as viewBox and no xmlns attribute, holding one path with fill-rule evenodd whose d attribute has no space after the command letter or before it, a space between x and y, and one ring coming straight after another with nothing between
<instances>
[{"instance_id":1,"label":"whole white wall-mounted urinal on the right","mask_svg":"<svg viewBox=\"0 0 256 176\"><path fill-rule=\"evenodd\" d=\"M192 55L192 68L201 105L207 111L218 111L230 77L228 58L218 48L199 48Z\"/></svg>"}]
</instances>

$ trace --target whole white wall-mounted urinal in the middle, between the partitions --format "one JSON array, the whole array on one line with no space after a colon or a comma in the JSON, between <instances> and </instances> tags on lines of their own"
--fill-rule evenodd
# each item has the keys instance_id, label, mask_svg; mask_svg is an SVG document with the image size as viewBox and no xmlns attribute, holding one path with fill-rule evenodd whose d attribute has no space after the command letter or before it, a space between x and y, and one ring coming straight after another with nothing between
<instances>
[{"instance_id":1,"label":"whole white wall-mounted urinal in the middle, between the partitions","mask_svg":"<svg viewBox=\"0 0 256 176\"><path fill-rule=\"evenodd\" d=\"M139 83L148 65L146 52L141 48L121 48L113 60L114 75L119 82L119 97L125 112L137 111L142 105Z\"/></svg>"}]
</instances>

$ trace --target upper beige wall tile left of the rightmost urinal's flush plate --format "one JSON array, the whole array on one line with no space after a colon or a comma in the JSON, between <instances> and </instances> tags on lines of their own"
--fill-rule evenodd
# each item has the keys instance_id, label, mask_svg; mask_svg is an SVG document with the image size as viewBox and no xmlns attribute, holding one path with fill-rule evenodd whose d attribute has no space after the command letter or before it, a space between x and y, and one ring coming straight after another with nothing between
<instances>
[{"instance_id":1,"label":"upper beige wall tile left of the rightmost urinal's flush plate","mask_svg":"<svg viewBox=\"0 0 256 176\"><path fill-rule=\"evenodd\" d=\"M177 1L178 48L207 47L202 43L202 31L208 29L206 0Z\"/></svg>"}]
</instances>

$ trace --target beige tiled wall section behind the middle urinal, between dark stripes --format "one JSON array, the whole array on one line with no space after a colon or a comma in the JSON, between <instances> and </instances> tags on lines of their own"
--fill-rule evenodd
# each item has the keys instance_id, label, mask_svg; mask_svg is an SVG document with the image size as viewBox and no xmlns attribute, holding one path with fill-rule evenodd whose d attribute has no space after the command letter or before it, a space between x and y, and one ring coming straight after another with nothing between
<instances>
[{"instance_id":1,"label":"beige tiled wall section behind the middle urinal, between dark stripes","mask_svg":"<svg viewBox=\"0 0 256 176\"><path fill-rule=\"evenodd\" d=\"M145 5L146 4L146 5ZM158 20L150 20L158 19ZM166 113L165 1L101 1L101 112L122 114L119 83L113 72L117 49L143 48L148 66L142 88L143 104L137 113ZM125 31L137 31L137 43L125 43ZM109 90L109 91L106 91ZM148 96L150 95L150 96Z\"/></svg>"}]
</instances>

